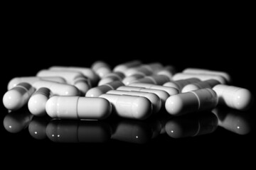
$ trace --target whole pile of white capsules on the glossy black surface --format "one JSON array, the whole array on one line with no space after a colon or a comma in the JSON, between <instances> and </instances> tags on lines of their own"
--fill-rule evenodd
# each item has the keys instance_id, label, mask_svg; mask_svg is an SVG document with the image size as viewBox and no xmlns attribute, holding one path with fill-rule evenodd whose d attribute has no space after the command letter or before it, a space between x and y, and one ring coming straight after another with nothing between
<instances>
[{"instance_id":1,"label":"whole pile of white capsules on the glossy black surface","mask_svg":"<svg viewBox=\"0 0 256 170\"><path fill-rule=\"evenodd\" d=\"M245 111L252 105L247 89L230 86L225 72L188 68L176 73L171 65L134 60L91 68L53 66L36 77L11 79L4 106L15 111L28 104L33 115L101 120L111 114L144 120L160 111L184 115L211 111L218 105Z\"/></svg>"}]
</instances>

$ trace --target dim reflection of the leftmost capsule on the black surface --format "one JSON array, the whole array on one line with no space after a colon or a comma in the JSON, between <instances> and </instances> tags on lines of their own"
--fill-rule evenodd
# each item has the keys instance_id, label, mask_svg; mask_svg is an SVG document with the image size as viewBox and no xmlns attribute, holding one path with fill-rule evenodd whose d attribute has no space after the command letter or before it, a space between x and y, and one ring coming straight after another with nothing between
<instances>
[{"instance_id":1,"label":"dim reflection of the leftmost capsule on the black surface","mask_svg":"<svg viewBox=\"0 0 256 170\"><path fill-rule=\"evenodd\" d=\"M26 129L31 122L33 115L28 108L21 108L18 111L11 111L4 117L4 128L11 133L21 132Z\"/></svg>"}]
</instances>

